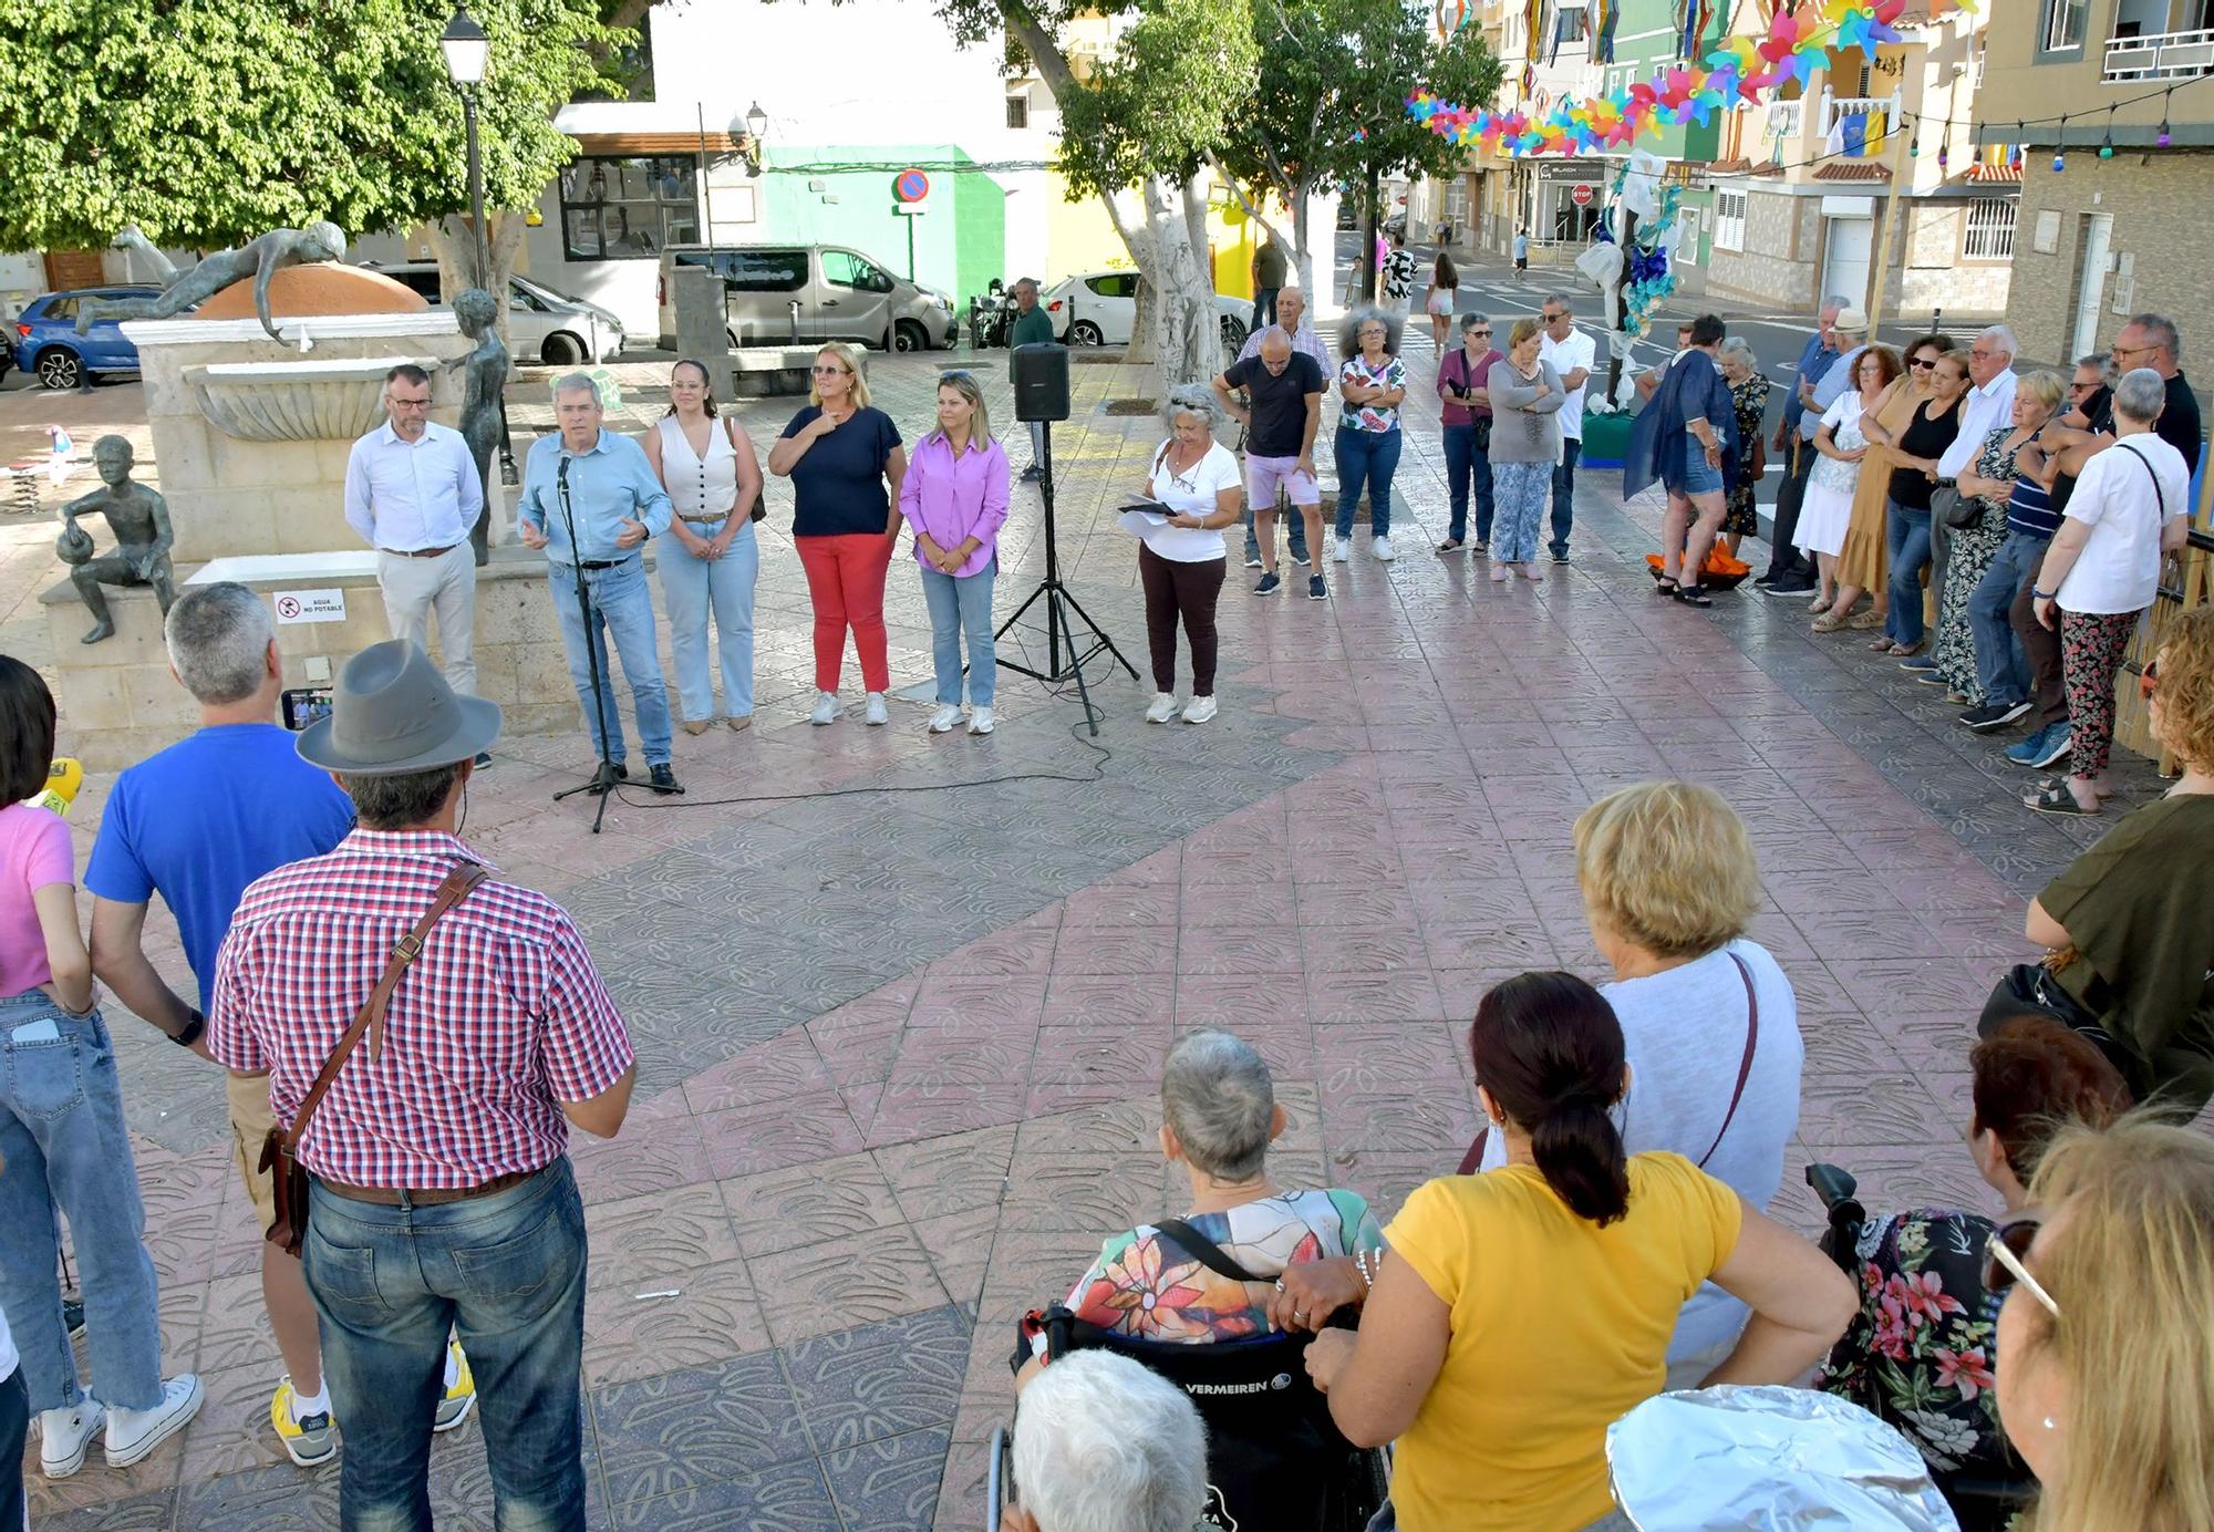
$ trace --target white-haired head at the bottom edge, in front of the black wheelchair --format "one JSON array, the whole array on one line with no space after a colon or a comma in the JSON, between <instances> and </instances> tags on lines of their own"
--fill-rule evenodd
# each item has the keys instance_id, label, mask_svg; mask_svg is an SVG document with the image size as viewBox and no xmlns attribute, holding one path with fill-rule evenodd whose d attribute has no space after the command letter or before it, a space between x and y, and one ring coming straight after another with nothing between
<instances>
[{"instance_id":1,"label":"white-haired head at the bottom edge, in front of the black wheelchair","mask_svg":"<svg viewBox=\"0 0 2214 1532\"><path fill-rule=\"evenodd\" d=\"M1023 1390L1014 1486L1001 1532L1193 1532L1207 1510L1207 1428L1176 1384L1078 1350Z\"/></svg>"}]
</instances>

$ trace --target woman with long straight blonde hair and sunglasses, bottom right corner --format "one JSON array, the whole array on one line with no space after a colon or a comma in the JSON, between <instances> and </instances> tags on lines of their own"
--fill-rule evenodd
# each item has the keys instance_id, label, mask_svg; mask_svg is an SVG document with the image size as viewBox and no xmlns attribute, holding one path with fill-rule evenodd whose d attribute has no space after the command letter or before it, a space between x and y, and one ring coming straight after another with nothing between
<instances>
[{"instance_id":1,"label":"woman with long straight blonde hair and sunglasses, bottom right corner","mask_svg":"<svg viewBox=\"0 0 2214 1532\"><path fill-rule=\"evenodd\" d=\"M1999 1419L2037 1532L2214 1528L2214 1140L2068 1129L1990 1238Z\"/></svg>"}]
</instances>

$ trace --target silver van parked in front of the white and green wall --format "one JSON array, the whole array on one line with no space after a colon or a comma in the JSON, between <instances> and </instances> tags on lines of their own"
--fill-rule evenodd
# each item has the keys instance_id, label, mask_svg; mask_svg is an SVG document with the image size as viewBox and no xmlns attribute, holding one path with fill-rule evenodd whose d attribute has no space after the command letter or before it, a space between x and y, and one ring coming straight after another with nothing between
<instances>
[{"instance_id":1,"label":"silver van parked in front of the white and green wall","mask_svg":"<svg viewBox=\"0 0 2214 1532\"><path fill-rule=\"evenodd\" d=\"M954 301L937 288L894 277L881 261L844 246L664 246L660 301L662 350L677 345L669 272L706 266L722 277L731 345L859 341L886 352L943 350L954 343Z\"/></svg>"}]
</instances>

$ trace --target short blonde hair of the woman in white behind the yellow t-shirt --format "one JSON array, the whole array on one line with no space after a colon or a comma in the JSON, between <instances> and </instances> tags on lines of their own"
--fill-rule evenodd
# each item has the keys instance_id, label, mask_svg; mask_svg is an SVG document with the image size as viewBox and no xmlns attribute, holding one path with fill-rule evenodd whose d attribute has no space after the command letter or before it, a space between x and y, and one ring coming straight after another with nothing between
<instances>
[{"instance_id":1,"label":"short blonde hair of the woman in white behind the yellow t-shirt","mask_svg":"<svg viewBox=\"0 0 2214 1532\"><path fill-rule=\"evenodd\" d=\"M1594 925L1660 956L1714 952L1760 910L1745 821L1694 781L1641 781L1585 808L1576 883Z\"/></svg>"}]
</instances>

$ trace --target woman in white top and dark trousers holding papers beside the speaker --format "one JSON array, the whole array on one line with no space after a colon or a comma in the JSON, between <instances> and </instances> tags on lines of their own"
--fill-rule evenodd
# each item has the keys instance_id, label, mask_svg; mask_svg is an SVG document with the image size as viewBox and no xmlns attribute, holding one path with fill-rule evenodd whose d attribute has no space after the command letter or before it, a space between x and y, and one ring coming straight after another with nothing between
<instances>
[{"instance_id":1,"label":"woman in white top and dark trousers holding papers beside the speaker","mask_svg":"<svg viewBox=\"0 0 2214 1532\"><path fill-rule=\"evenodd\" d=\"M1145 638L1153 651L1153 706L1145 722L1176 717L1176 622L1184 622L1191 644L1191 702L1187 724L1215 715L1215 598L1229 569L1222 529L1238 525L1244 485L1238 458L1215 441L1222 405L1204 383L1169 390L1162 407L1169 438L1153 452L1145 494L1153 503L1134 509L1125 522L1145 547L1138 549L1138 582L1145 587Z\"/></svg>"}]
</instances>

